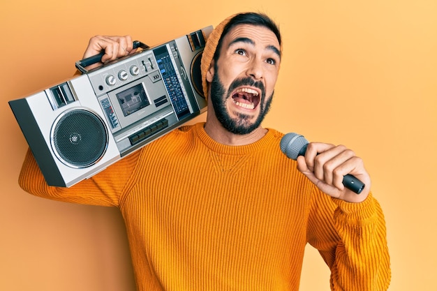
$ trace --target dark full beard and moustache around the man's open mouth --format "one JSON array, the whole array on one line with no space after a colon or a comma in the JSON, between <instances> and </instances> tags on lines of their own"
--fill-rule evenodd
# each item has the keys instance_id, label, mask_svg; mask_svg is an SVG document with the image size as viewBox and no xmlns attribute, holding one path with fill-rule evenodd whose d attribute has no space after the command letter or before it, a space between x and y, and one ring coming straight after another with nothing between
<instances>
[{"instance_id":1,"label":"dark full beard and moustache around the man's open mouth","mask_svg":"<svg viewBox=\"0 0 437 291\"><path fill-rule=\"evenodd\" d=\"M251 123L250 121L251 115L249 114L238 113L237 118L232 119L225 106L226 100L228 100L228 98L232 98L232 96L230 96L232 91L235 88L244 85L258 87L258 89L260 89L261 91L260 102L258 104L258 106L260 106L260 114L253 123ZM223 84L221 83L220 79L218 78L218 74L216 73L212 78L211 94L209 98L212 102L212 107L214 107L216 117L223 126L223 128L228 130L230 133L235 133L237 135L246 135L248 133L251 133L256 128L260 127L262 121L267 115L267 112L269 112L270 110L270 105L272 104L273 99L272 97L273 93L271 96L269 96L269 98L266 99L264 84L262 84L261 82L255 82L251 77L235 80L234 82L232 82L232 84L230 84L228 92L226 92L225 87L223 87Z\"/></svg>"}]
</instances>

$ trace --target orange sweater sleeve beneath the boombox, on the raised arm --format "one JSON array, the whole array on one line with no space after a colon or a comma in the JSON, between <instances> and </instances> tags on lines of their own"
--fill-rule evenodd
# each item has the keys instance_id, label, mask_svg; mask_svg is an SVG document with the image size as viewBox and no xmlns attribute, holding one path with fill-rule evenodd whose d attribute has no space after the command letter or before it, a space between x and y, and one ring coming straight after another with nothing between
<instances>
[{"instance_id":1,"label":"orange sweater sleeve beneath the boombox, on the raised arm","mask_svg":"<svg viewBox=\"0 0 437 291\"><path fill-rule=\"evenodd\" d=\"M52 200L118 206L124 187L134 172L137 156L138 154L131 154L94 175L94 177L80 181L80 183L70 188L65 188L47 185L29 149L24 158L18 184L28 193Z\"/></svg>"}]
</instances>

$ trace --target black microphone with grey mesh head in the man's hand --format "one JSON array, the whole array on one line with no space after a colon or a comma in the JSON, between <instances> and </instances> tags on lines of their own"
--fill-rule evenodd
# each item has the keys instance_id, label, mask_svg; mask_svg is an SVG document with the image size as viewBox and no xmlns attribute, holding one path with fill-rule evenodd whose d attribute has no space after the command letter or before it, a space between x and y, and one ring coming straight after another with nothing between
<instances>
[{"instance_id":1,"label":"black microphone with grey mesh head in the man's hand","mask_svg":"<svg viewBox=\"0 0 437 291\"><path fill-rule=\"evenodd\" d=\"M308 143L308 140L306 140L303 135L287 133L282 137L280 147L281 151L286 154L288 158L292 158L296 161L298 156L305 155ZM346 174L346 176L343 177L343 185L357 194L360 194L365 186L362 181L351 174Z\"/></svg>"}]
</instances>

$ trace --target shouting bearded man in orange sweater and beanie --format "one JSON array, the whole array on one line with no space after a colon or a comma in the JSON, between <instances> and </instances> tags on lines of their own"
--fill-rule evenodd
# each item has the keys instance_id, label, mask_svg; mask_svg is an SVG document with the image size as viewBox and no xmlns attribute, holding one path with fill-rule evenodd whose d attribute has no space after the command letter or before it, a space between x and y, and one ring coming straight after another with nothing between
<instances>
[{"instance_id":1,"label":"shouting bearded man in orange sweater and beanie","mask_svg":"<svg viewBox=\"0 0 437 291\"><path fill-rule=\"evenodd\" d=\"M131 38L91 38L84 57L131 53ZM117 206L138 290L298 290L306 243L332 290L386 290L385 222L362 160L311 143L298 161L262 128L281 64L272 20L242 13L212 32L202 56L205 124L184 126L71 188L45 184L27 154L20 185L55 200ZM298 170L297 170L298 169ZM353 174L360 195L342 184Z\"/></svg>"}]
</instances>

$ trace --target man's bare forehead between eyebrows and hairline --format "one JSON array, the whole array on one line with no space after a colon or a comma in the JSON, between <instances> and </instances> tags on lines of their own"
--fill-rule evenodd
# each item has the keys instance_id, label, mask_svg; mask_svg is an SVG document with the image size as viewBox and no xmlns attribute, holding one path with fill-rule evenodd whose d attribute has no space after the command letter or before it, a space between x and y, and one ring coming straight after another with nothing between
<instances>
[{"instance_id":1,"label":"man's bare forehead between eyebrows and hairline","mask_svg":"<svg viewBox=\"0 0 437 291\"><path fill-rule=\"evenodd\" d=\"M263 47L274 46L278 50L280 48L279 40L274 32L260 25L239 24L232 27L223 38L223 44L228 47L239 39L249 39L254 45L262 45Z\"/></svg>"}]
</instances>

